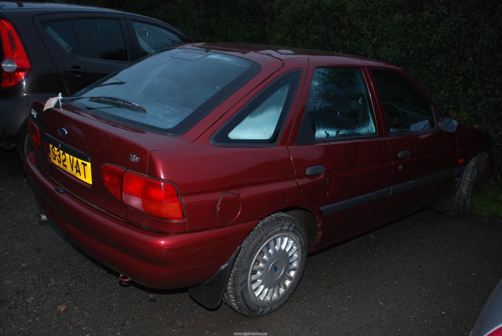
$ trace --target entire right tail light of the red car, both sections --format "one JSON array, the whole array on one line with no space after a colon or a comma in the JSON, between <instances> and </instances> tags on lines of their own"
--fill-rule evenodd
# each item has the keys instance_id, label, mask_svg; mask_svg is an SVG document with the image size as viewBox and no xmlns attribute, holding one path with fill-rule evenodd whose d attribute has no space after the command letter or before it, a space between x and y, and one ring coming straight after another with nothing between
<instances>
[{"instance_id":1,"label":"entire right tail light of the red car, both sections","mask_svg":"<svg viewBox=\"0 0 502 336\"><path fill-rule=\"evenodd\" d=\"M178 190L170 182L124 172L110 164L103 165L102 174L106 189L128 207L169 220L185 218Z\"/></svg>"}]
</instances>

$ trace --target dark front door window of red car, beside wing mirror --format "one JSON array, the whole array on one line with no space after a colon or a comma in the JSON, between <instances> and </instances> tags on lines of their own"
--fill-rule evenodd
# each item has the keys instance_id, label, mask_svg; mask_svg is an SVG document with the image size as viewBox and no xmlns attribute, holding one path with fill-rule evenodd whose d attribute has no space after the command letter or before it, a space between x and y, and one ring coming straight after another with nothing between
<instances>
[{"instance_id":1,"label":"dark front door window of red car, beside wing mirror","mask_svg":"<svg viewBox=\"0 0 502 336\"><path fill-rule=\"evenodd\" d=\"M371 73L384 105L390 134L433 128L432 105L408 78L391 70L371 69Z\"/></svg>"}]
</instances>

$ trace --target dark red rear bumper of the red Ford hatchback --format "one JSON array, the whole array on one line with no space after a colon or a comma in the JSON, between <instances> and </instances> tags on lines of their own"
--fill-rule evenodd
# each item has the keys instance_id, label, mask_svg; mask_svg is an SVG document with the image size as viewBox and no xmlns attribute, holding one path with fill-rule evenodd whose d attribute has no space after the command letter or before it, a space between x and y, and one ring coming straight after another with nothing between
<instances>
[{"instance_id":1,"label":"dark red rear bumper of the red Ford hatchback","mask_svg":"<svg viewBox=\"0 0 502 336\"><path fill-rule=\"evenodd\" d=\"M133 281L153 288L179 288L209 280L258 221L218 229L168 234L118 218L58 185L30 153L25 171L44 213L84 251Z\"/></svg>"}]
</instances>

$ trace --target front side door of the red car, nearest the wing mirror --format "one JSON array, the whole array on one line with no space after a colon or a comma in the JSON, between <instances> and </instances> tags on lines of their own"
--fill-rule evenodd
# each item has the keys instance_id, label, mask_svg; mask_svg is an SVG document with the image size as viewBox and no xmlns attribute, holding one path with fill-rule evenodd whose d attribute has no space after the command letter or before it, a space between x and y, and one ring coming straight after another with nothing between
<instances>
[{"instance_id":1,"label":"front side door of the red car, nearest the wing mirror","mask_svg":"<svg viewBox=\"0 0 502 336\"><path fill-rule=\"evenodd\" d=\"M400 69L371 67L393 160L392 187L381 221L439 202L454 183L454 133L439 131L436 109Z\"/></svg>"}]
</instances>

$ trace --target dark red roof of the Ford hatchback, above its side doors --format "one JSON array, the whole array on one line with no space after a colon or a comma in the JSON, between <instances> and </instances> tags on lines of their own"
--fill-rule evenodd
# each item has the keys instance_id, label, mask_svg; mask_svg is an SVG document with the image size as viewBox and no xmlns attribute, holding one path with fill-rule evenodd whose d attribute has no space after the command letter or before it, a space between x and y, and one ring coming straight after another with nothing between
<instances>
[{"instance_id":1,"label":"dark red roof of the Ford hatchback, above its side doors","mask_svg":"<svg viewBox=\"0 0 502 336\"><path fill-rule=\"evenodd\" d=\"M283 61L290 58L318 57L318 56L321 57L334 56L334 57L343 57L357 60L377 61L361 56L339 54L329 51L310 50L310 49L292 48L292 47L266 45L266 44L254 44L254 43L206 42L206 43L192 44L192 46L198 48L211 48L211 49L214 48L220 51L227 50L227 51L239 51L243 53L260 53L276 57Z\"/></svg>"}]
</instances>

